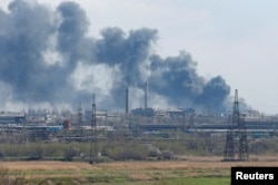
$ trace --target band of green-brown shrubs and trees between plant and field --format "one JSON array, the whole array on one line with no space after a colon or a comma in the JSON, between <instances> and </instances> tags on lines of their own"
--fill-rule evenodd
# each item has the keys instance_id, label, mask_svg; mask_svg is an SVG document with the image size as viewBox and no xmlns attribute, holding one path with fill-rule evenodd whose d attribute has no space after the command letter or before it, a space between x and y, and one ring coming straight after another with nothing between
<instances>
[{"instance_id":1,"label":"band of green-brown shrubs and trees between plant and field","mask_svg":"<svg viewBox=\"0 0 278 185\"><path fill-rule=\"evenodd\" d=\"M175 159L176 156L222 156L225 139L187 137L182 139L103 139L91 143L36 142L24 144L0 144L1 160L156 160ZM97 148L97 149L96 149ZM235 147L236 148L236 147ZM278 153L276 140L249 142L249 154Z\"/></svg>"}]
</instances>

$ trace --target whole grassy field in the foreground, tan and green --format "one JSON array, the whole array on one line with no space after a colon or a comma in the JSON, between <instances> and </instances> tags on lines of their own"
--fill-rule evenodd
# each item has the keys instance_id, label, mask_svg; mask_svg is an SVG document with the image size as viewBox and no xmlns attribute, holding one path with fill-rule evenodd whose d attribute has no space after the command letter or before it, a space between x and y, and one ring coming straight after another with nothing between
<instances>
[{"instance_id":1,"label":"whole grassy field in the foreground, tan and green","mask_svg":"<svg viewBox=\"0 0 278 185\"><path fill-rule=\"evenodd\" d=\"M1 173L24 178L26 184L135 184L226 185L231 166L278 166L278 162L222 163L220 158L168 162L115 162L90 165L79 162L1 162Z\"/></svg>"}]
</instances>

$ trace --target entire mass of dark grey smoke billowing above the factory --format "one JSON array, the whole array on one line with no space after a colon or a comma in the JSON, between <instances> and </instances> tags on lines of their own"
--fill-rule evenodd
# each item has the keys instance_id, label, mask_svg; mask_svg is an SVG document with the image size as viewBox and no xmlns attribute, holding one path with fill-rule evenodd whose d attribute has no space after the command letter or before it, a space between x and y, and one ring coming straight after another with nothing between
<instances>
[{"instance_id":1,"label":"entire mass of dark grey smoke billowing above the factory","mask_svg":"<svg viewBox=\"0 0 278 185\"><path fill-rule=\"evenodd\" d=\"M88 36L90 25L76 2L52 9L37 1L14 0L0 8L1 105L88 103L97 95L100 107L125 109L130 87L131 108L149 105L222 110L230 93L225 79L205 79L186 51L162 58L155 53L158 30L125 32L105 28L101 38Z\"/></svg>"}]
</instances>

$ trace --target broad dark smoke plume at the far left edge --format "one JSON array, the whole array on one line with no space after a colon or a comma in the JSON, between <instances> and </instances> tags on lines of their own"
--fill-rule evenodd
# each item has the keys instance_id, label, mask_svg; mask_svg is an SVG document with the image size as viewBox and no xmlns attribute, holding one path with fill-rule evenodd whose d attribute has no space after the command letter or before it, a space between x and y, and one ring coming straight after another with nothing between
<instances>
[{"instance_id":1,"label":"broad dark smoke plume at the far left edge","mask_svg":"<svg viewBox=\"0 0 278 185\"><path fill-rule=\"evenodd\" d=\"M16 99L42 100L41 95L48 99L51 80L41 51L54 32L52 12L26 1L11 2L9 10L10 13L1 12L0 79L12 87Z\"/></svg>"}]
</instances>

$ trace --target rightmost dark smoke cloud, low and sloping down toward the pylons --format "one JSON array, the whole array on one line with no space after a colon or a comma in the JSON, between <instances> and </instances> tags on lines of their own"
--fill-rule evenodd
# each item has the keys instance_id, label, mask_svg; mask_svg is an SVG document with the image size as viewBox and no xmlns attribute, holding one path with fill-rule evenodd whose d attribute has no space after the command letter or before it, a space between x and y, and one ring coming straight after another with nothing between
<instances>
[{"instance_id":1,"label":"rightmost dark smoke cloud, low and sloping down toward the pylons","mask_svg":"<svg viewBox=\"0 0 278 185\"><path fill-rule=\"evenodd\" d=\"M169 101L183 107L198 105L203 108L221 110L222 103L230 93L229 86L218 76L208 82L196 71L196 62L191 56L180 52L177 57L161 59L153 55L149 81L158 94Z\"/></svg>"}]
</instances>

